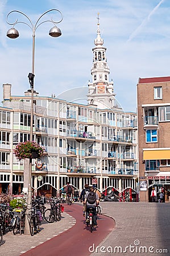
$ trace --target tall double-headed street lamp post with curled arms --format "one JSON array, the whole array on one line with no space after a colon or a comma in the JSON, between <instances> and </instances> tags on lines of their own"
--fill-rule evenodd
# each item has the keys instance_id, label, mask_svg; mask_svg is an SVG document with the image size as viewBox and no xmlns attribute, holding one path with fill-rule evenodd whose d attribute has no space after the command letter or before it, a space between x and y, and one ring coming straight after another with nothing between
<instances>
[{"instance_id":1,"label":"tall double-headed street lamp post with curled arms","mask_svg":"<svg viewBox=\"0 0 170 256\"><path fill-rule=\"evenodd\" d=\"M51 11L57 11L60 15L61 15L61 19L59 20L59 22L55 22L52 18L51 20L43 20L43 22L39 22L40 19L47 13L51 12ZM18 21L18 19L15 20L14 23L10 23L8 21L9 19L9 15L11 13L19 13L19 14L22 14L24 15L30 23L26 23L26 22L22 22L22 21ZM63 20L63 14L61 13L61 11L57 10L57 9L51 9L51 10L48 10L48 11L45 11L45 13L43 13L42 15L40 15L40 17L38 18L38 20L36 21L35 24L32 23L31 19L24 13L22 13L22 11L17 11L17 10L14 10L14 11L10 11L9 14L7 14L7 17L6 17L6 22L9 24L9 25L12 25L13 27L10 28L8 31L7 31L7 36L9 38L12 38L12 39L15 39L15 38L18 38L19 36L19 32L18 30L16 30L14 28L14 26L18 23L23 23L23 24L26 24L28 27L31 28L32 30L32 73L29 73L28 74L28 79L29 79L29 82L30 82L30 86L31 86L31 123L30 123L30 141L32 141L32 134L33 134L33 112L34 112L34 105L33 105L33 99L34 99L34 64L35 64L35 31L36 29L43 23L45 22L52 22L54 24L54 27L51 28L51 30L49 30L49 35L52 36L52 37L59 37L61 35L61 30L60 28L56 27L56 24L57 23L60 23L61 21ZM32 176L32 159L30 158L30 168L29 168L29 180L28 180L28 198L27 198L27 204L28 204L28 208L27 208L27 214L28 212L30 211L31 209L31 204L32 204L32 187L31 187L31 176ZM28 218L26 218L26 225L25 225L25 230L24 230L24 234L30 234L30 228L29 228L29 224L28 224Z\"/></svg>"}]
</instances>

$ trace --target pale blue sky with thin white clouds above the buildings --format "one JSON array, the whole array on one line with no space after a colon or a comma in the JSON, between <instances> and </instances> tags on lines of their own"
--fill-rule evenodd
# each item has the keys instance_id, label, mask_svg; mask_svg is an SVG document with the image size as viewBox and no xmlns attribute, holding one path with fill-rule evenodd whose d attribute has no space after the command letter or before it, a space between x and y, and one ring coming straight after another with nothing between
<instances>
[{"instance_id":1,"label":"pale blue sky with thin white clouds above the buildings","mask_svg":"<svg viewBox=\"0 0 170 256\"><path fill-rule=\"evenodd\" d=\"M169 0L1 0L0 83L12 84L13 95L23 95L30 88L27 76L32 65L32 31L24 24L16 24L19 38L7 38L6 31L11 26L6 23L6 15L19 10L35 23L53 8L64 16L58 24L62 36L48 35L52 23L43 23L36 30L35 89L41 96L53 93L63 98L63 92L75 93L73 88L81 88L82 94L88 92L98 12L110 80L113 79L116 98L125 111L136 111L139 77L170 76ZM56 21L60 19L57 13L45 15L44 19L51 16ZM16 18L23 21L18 13L10 21Z\"/></svg>"}]
</instances>

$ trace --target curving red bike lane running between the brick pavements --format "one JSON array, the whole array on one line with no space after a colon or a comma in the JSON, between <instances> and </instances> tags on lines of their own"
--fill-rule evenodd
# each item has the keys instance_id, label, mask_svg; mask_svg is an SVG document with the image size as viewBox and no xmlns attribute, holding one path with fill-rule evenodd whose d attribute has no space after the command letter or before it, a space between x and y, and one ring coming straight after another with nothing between
<instances>
[{"instance_id":1,"label":"curving red bike lane running between the brick pavements","mask_svg":"<svg viewBox=\"0 0 170 256\"><path fill-rule=\"evenodd\" d=\"M65 204L64 207L65 212L76 219L76 224L51 240L22 254L23 256L88 256L91 254L89 247L93 246L93 243L95 247L98 246L115 227L112 218L101 214L98 216L98 226L91 233L90 226L86 226L85 217L82 216L81 205Z\"/></svg>"}]
</instances>

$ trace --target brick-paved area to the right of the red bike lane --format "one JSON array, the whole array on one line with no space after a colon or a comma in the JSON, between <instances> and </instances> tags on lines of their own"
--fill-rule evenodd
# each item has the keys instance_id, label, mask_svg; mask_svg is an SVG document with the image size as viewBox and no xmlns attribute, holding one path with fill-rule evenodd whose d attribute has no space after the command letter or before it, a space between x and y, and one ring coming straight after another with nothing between
<instances>
[{"instance_id":1,"label":"brick-paved area to the right of the red bike lane","mask_svg":"<svg viewBox=\"0 0 170 256\"><path fill-rule=\"evenodd\" d=\"M94 249L92 243L91 255L170 255L170 203L100 204L103 214L113 217L116 225L98 249L96 246ZM130 246L134 247L130 249ZM167 251L163 251L164 249Z\"/></svg>"}]
</instances>

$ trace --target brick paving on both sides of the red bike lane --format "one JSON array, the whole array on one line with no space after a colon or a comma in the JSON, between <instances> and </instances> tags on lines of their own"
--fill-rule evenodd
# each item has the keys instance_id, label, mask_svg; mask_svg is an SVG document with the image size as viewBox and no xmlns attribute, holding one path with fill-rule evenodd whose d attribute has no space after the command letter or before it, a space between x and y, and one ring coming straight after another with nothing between
<instances>
[{"instance_id":1,"label":"brick paving on both sides of the red bike lane","mask_svg":"<svg viewBox=\"0 0 170 256\"><path fill-rule=\"evenodd\" d=\"M92 241L90 248L92 256L118 256L119 254L133 256L153 255L153 253L170 255L170 203L101 202L100 205L103 208L102 213L114 218L116 225L100 245L93 245ZM3 236L5 243L0 247L0 255L19 256L64 230L68 230L74 224L76 220L64 212L59 222L53 224L43 222L42 231L33 237L24 234L14 236L13 233L8 232ZM96 248L97 246L99 247ZM126 246L128 246L127 249ZM126 253L123 252L125 249ZM113 253L111 253L112 250ZM163 250L168 251L165 253Z\"/></svg>"}]
</instances>

